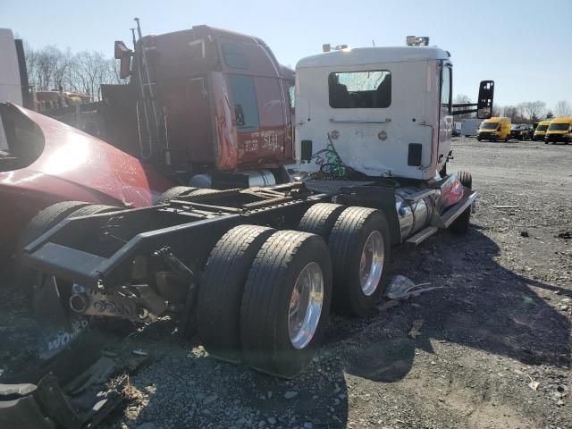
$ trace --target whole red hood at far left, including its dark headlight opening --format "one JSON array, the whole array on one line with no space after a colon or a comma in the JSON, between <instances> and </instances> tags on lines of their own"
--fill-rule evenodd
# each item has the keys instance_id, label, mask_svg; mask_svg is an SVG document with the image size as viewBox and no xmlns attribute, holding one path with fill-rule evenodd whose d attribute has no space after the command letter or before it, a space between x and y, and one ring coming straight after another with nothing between
<instances>
[{"instance_id":1,"label":"whole red hood at far left, including its dark headlight opening","mask_svg":"<svg viewBox=\"0 0 572 429\"><path fill-rule=\"evenodd\" d=\"M42 208L63 200L150 206L172 181L105 141L17 105L2 105L0 234L17 238ZM22 161L23 160L23 161Z\"/></svg>"}]
</instances>

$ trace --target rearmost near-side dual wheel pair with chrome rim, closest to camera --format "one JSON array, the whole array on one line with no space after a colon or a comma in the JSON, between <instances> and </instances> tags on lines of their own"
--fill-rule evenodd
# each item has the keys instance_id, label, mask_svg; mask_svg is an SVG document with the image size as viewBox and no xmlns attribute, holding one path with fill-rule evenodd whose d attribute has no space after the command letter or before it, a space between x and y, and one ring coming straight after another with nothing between
<instances>
[{"instance_id":1,"label":"rearmost near-side dual wheel pair with chrome rim, closest to camera","mask_svg":"<svg viewBox=\"0 0 572 429\"><path fill-rule=\"evenodd\" d=\"M240 225L214 247L198 298L206 350L290 378L320 343L332 297L324 240L299 231Z\"/></svg>"}]
</instances>

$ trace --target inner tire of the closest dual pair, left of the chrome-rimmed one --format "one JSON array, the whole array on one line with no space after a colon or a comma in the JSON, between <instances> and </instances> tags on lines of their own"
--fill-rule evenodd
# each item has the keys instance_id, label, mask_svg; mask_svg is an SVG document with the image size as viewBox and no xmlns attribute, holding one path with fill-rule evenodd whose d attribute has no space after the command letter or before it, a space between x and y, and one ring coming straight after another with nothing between
<instances>
[{"instance_id":1,"label":"inner tire of the closest dual pair, left of the chrome-rimmed one","mask_svg":"<svg viewBox=\"0 0 572 429\"><path fill-rule=\"evenodd\" d=\"M206 263L198 290L198 335L213 357L238 363L240 302L252 261L276 230L240 225L218 240Z\"/></svg>"}]
</instances>

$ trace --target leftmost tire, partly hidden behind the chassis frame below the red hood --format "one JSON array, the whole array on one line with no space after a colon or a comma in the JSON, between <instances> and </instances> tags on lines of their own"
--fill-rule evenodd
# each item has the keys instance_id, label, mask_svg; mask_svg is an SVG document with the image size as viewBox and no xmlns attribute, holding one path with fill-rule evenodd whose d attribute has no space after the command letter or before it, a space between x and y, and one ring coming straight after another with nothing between
<instances>
[{"instance_id":1,"label":"leftmost tire, partly hidden behind the chassis frame below the red hood","mask_svg":"<svg viewBox=\"0 0 572 429\"><path fill-rule=\"evenodd\" d=\"M89 203L81 201L62 201L52 206L47 206L32 218L22 232L15 252L15 276L16 283L28 297L31 296L33 292L36 273L34 270L24 267L21 264L21 256L24 248L57 223L63 221L69 214L88 205Z\"/></svg>"}]
</instances>

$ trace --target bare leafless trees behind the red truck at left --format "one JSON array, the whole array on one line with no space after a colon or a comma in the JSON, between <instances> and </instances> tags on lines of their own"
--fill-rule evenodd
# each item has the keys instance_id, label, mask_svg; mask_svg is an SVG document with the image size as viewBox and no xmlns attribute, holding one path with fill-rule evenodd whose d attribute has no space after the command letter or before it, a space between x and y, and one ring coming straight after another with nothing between
<instances>
[{"instance_id":1,"label":"bare leafless trees behind the red truck at left","mask_svg":"<svg viewBox=\"0 0 572 429\"><path fill-rule=\"evenodd\" d=\"M101 84L125 83L119 77L119 64L101 52L73 54L57 46L34 49L24 43L29 85L37 91L58 90L86 94L93 101L101 99Z\"/></svg>"}]
</instances>

